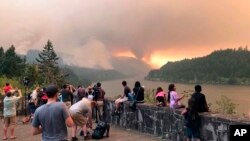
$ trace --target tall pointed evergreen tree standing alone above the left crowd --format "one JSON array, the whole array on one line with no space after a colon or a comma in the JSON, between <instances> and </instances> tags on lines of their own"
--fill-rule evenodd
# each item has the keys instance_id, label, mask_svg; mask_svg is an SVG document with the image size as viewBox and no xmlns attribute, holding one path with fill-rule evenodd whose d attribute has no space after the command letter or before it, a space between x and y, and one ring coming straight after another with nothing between
<instances>
[{"instance_id":1,"label":"tall pointed evergreen tree standing alone above the left crowd","mask_svg":"<svg viewBox=\"0 0 250 141\"><path fill-rule=\"evenodd\" d=\"M48 40L47 44L43 47L43 50L38 54L38 58L36 58L44 84L58 84L63 81L63 75L60 72L57 62L58 60L59 57L54 51L52 42Z\"/></svg>"}]
</instances>

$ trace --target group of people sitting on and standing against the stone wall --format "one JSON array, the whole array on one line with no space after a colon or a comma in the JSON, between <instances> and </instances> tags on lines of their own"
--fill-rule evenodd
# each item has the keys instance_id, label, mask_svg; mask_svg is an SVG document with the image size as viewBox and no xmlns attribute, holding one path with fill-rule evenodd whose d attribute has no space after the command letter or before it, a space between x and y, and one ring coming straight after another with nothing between
<instances>
[{"instance_id":1,"label":"group of people sitting on and standing against the stone wall","mask_svg":"<svg viewBox=\"0 0 250 141\"><path fill-rule=\"evenodd\" d=\"M141 86L139 81L135 82L135 86L132 91L127 86L126 81L123 81L122 85L124 87L124 92L115 101L115 111L113 115L120 114L120 105L125 101L136 101L136 103L144 102L144 88ZM202 87L200 85L196 85L194 89L195 92L188 100L188 107L185 107L185 105L181 103L181 100L185 97L185 95L180 96L176 92L176 87L174 84L169 84L168 93L165 93L162 87L158 87L155 93L155 101L157 106L169 106L172 109L183 108L182 114L185 118L185 135L187 137L187 141L191 141L192 138L195 138L197 141L200 140L199 128L201 123L198 113L209 112L205 95L201 93Z\"/></svg>"}]
</instances>

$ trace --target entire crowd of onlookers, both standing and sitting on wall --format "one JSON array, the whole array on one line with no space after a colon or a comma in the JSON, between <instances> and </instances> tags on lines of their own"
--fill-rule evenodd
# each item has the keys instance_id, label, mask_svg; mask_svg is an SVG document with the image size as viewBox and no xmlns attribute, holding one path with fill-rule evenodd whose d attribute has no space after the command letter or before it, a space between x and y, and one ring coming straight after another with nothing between
<instances>
[{"instance_id":1,"label":"entire crowd of onlookers, both standing and sitting on wall","mask_svg":"<svg viewBox=\"0 0 250 141\"><path fill-rule=\"evenodd\" d=\"M136 81L133 89L130 89L126 81L122 81L123 92L115 100L113 116L121 114L123 102L130 101L144 103L144 87ZM155 93L156 105L159 107L169 106L172 109L182 108L185 119L185 135L187 141L195 138L200 140L201 126L199 113L209 112L206 97L201 93L201 85L195 85L195 92L188 100L187 107L181 103L185 95L180 96L176 92L175 84L169 84L168 92L158 87ZM10 138L15 139L14 129L16 125L15 103L22 97L20 89L6 83L3 88L4 102L4 140L7 140L7 130L10 127ZM14 93L17 93L14 95ZM33 135L42 133L43 140L68 140L67 127L72 128L72 141L78 140L77 127L82 129L84 138L87 138L88 130L93 129L93 111L96 111L98 121L103 120L105 91L101 83L84 88L65 84L62 89L55 85L44 88L35 87L29 94L29 110L32 117Z\"/></svg>"}]
</instances>

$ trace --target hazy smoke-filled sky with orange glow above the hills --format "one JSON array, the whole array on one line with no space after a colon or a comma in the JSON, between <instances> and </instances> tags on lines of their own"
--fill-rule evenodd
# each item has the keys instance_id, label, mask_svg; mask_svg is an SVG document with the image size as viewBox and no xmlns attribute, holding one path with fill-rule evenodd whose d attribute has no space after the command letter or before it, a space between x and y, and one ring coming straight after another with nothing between
<instances>
[{"instance_id":1,"label":"hazy smoke-filled sky with orange glow above the hills","mask_svg":"<svg viewBox=\"0 0 250 141\"><path fill-rule=\"evenodd\" d=\"M249 0L1 0L0 46L41 50L68 64L112 68L111 56L152 67L250 42Z\"/></svg>"}]
</instances>

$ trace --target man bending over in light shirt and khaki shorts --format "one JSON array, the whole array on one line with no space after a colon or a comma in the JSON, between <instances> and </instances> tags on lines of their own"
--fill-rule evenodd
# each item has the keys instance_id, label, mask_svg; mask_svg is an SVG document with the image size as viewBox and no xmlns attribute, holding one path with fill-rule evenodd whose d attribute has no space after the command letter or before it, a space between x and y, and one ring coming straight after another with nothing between
<instances>
[{"instance_id":1,"label":"man bending over in light shirt and khaki shorts","mask_svg":"<svg viewBox=\"0 0 250 141\"><path fill-rule=\"evenodd\" d=\"M74 121L74 127L72 130L72 141L78 140L76 137L77 126L82 127L84 138L87 138L87 123L89 123L90 129L92 129L92 107L95 106L95 102L82 98L69 109L70 115Z\"/></svg>"}]
</instances>

